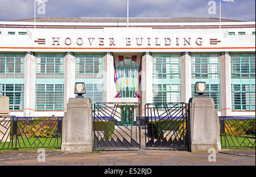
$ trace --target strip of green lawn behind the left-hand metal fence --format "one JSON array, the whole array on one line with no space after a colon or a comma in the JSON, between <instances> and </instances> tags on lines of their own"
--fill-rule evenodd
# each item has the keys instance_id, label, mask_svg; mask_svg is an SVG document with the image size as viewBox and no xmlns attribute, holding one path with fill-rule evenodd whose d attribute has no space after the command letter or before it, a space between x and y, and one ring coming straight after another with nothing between
<instances>
[{"instance_id":1,"label":"strip of green lawn behind the left-hand metal fence","mask_svg":"<svg viewBox=\"0 0 256 177\"><path fill-rule=\"evenodd\" d=\"M27 138L18 137L18 140L13 140L13 150L33 150L33 149L60 149L61 138L34 138L31 137L29 140ZM47 147L46 147L47 146ZM7 149L8 148L8 149ZM11 140L10 142L1 142L0 143L0 152L1 151L10 151L11 150Z\"/></svg>"}]
</instances>

